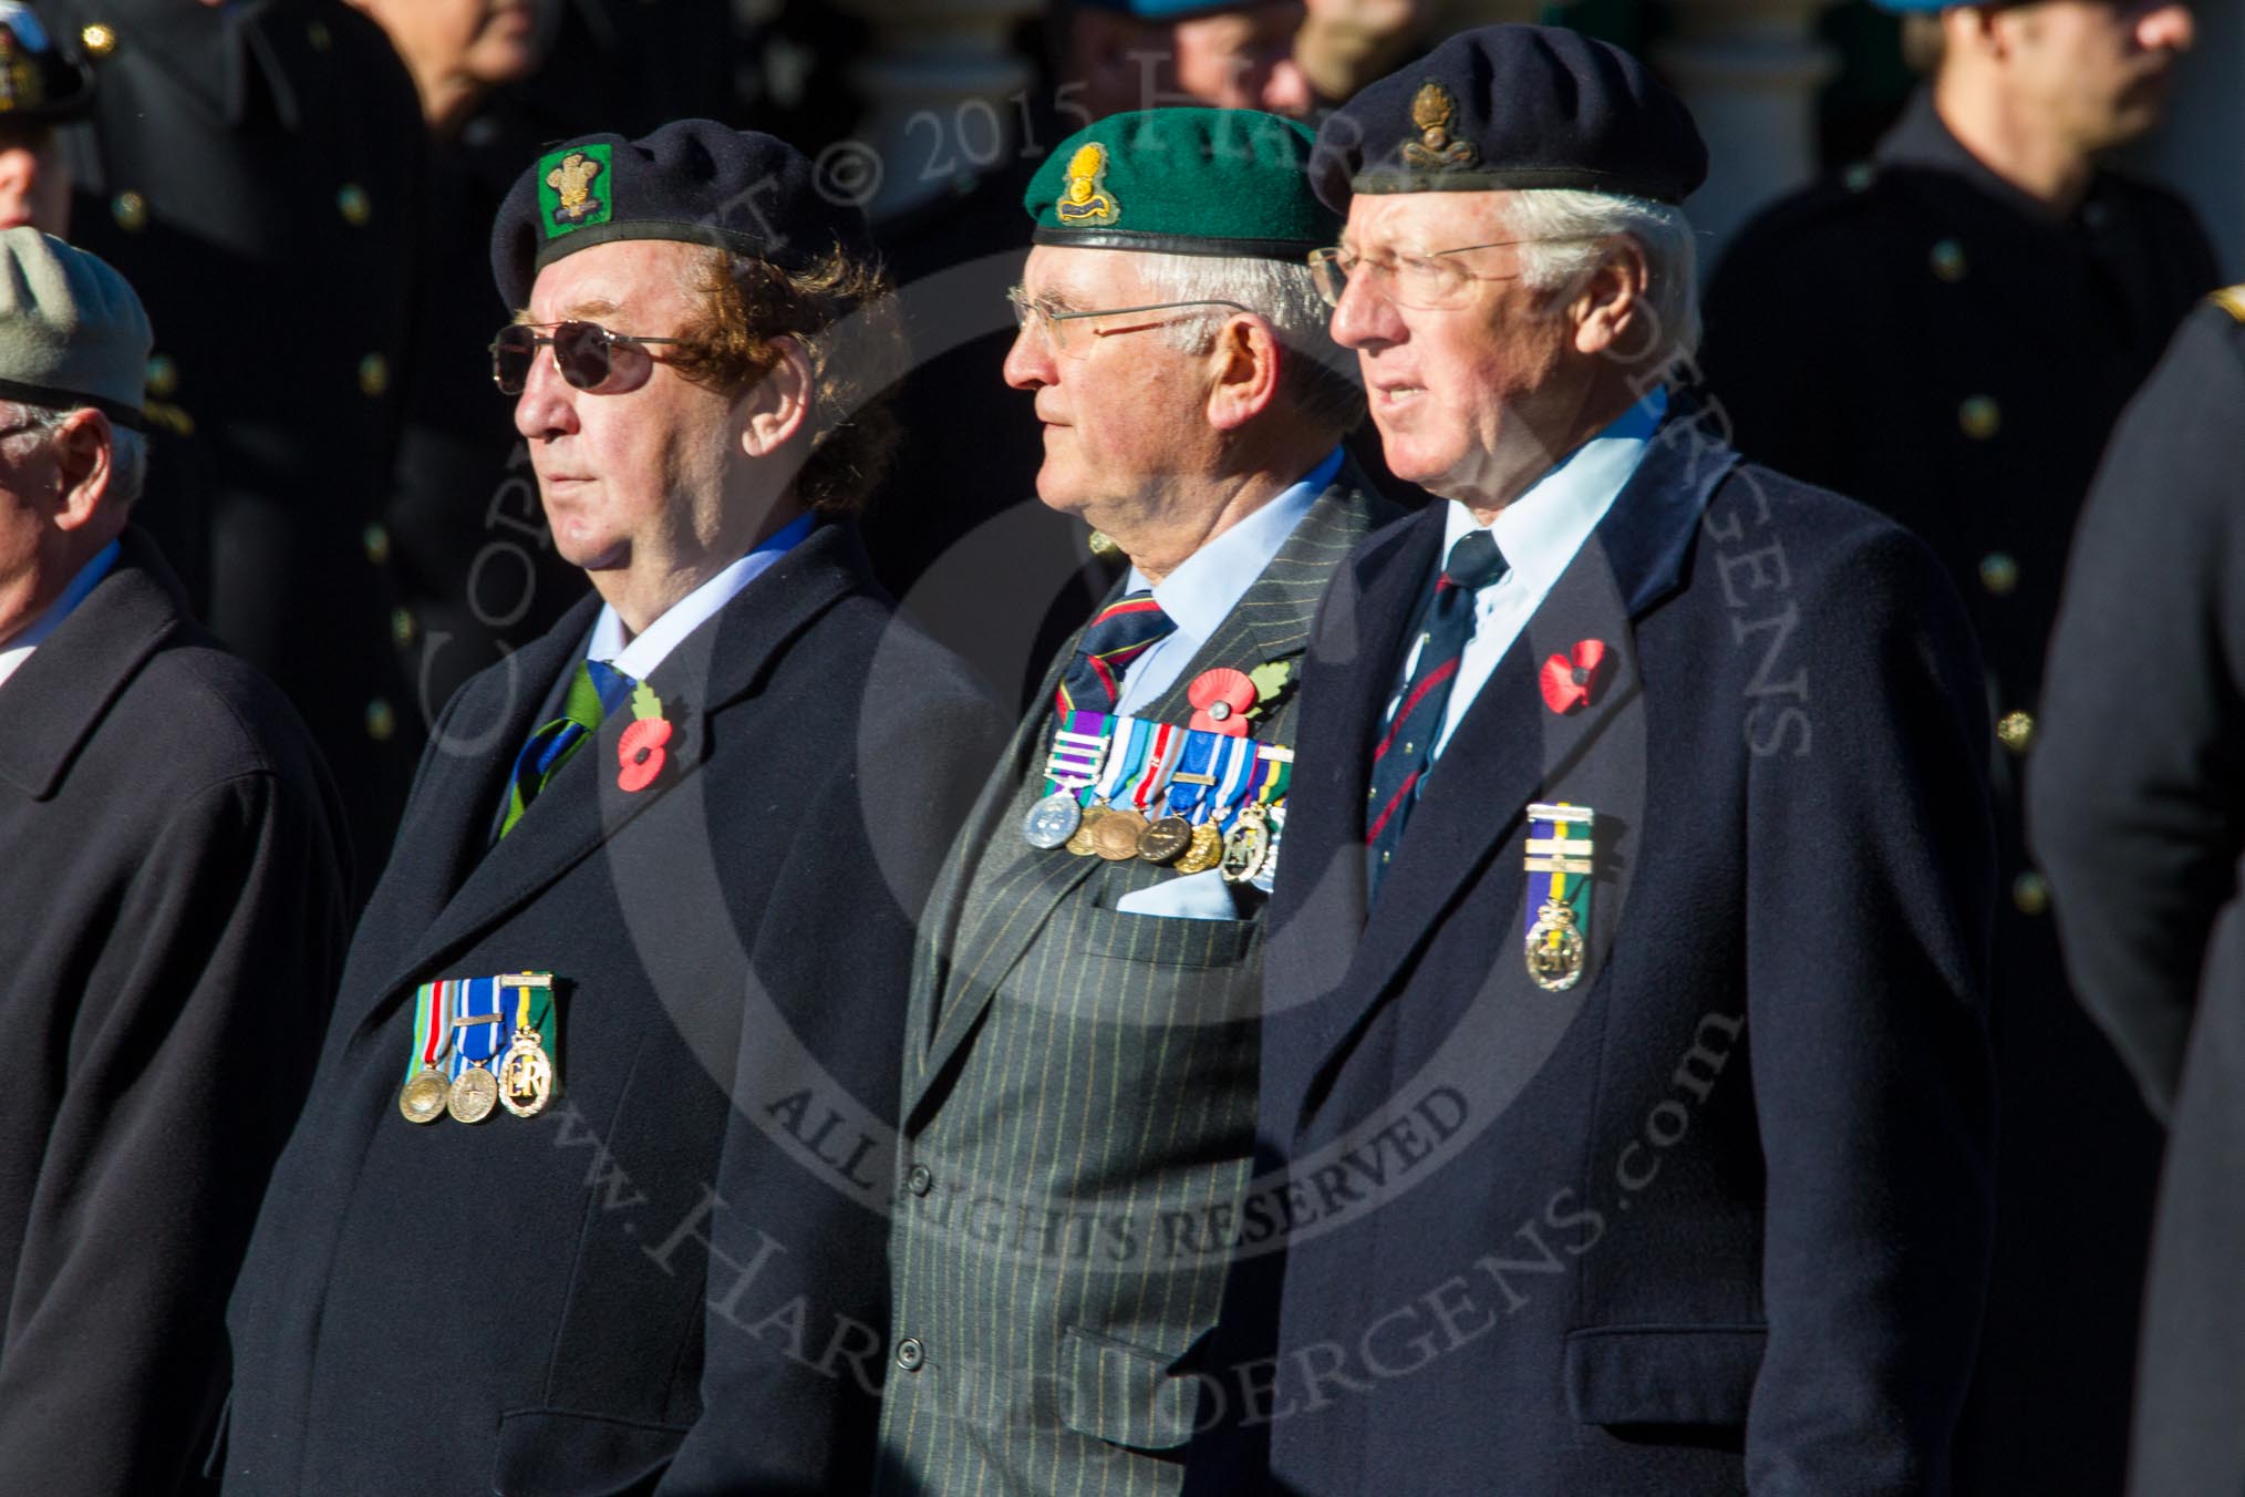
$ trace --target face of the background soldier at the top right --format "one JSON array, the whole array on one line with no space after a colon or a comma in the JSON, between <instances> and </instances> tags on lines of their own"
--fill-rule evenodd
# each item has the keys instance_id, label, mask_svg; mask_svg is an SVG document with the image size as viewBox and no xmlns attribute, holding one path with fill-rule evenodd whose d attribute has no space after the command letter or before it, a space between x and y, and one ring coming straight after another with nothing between
<instances>
[{"instance_id":1,"label":"face of the background soldier at the top right","mask_svg":"<svg viewBox=\"0 0 2245 1497\"><path fill-rule=\"evenodd\" d=\"M2086 153L2160 123L2193 38L2191 7L2173 0L2036 0L1996 11L1991 25L2018 101Z\"/></svg>"}]
</instances>

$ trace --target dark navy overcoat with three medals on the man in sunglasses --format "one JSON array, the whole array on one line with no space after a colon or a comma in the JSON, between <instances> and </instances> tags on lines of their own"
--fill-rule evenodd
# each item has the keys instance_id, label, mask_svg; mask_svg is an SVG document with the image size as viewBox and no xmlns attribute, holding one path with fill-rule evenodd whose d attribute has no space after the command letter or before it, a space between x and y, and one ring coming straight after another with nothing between
<instances>
[{"instance_id":1,"label":"dark navy overcoat with three medals on the man in sunglasses","mask_svg":"<svg viewBox=\"0 0 2245 1497\"><path fill-rule=\"evenodd\" d=\"M828 525L653 671L651 788L613 714L492 846L593 606L422 759L229 1311L227 1493L869 1479L911 929L1004 723ZM525 967L552 1106L409 1124L415 985Z\"/></svg>"}]
</instances>

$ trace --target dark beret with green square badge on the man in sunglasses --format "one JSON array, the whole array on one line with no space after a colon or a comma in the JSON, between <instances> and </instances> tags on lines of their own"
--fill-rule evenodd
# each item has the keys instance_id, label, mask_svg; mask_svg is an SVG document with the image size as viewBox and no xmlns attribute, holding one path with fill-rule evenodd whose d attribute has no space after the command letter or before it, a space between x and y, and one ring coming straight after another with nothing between
<instances>
[{"instance_id":1,"label":"dark beret with green square badge on the man in sunglasses","mask_svg":"<svg viewBox=\"0 0 2245 1497\"><path fill-rule=\"evenodd\" d=\"M864 213L819 191L801 150L761 130L674 119L647 139L584 135L525 171L492 224L492 276L510 307L555 260L615 240L712 245L806 269L869 258Z\"/></svg>"}]
</instances>

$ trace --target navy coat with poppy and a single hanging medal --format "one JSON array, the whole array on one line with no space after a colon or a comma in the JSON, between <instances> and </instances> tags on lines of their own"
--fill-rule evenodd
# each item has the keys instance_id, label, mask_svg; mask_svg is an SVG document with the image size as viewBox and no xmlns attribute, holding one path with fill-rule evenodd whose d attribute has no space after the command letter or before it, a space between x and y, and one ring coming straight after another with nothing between
<instances>
[{"instance_id":1,"label":"navy coat with poppy and a single hanging medal","mask_svg":"<svg viewBox=\"0 0 2245 1497\"><path fill-rule=\"evenodd\" d=\"M1327 595L1266 967L1284 1176L1239 1232L1262 1347L1203 1383L1277 1490L1946 1490L1989 1248L1980 669L1922 543L1711 424L1677 402L1369 913L1441 507ZM1610 673L1554 711L1583 640ZM1522 954L1538 799L1596 810L1565 992Z\"/></svg>"}]
</instances>

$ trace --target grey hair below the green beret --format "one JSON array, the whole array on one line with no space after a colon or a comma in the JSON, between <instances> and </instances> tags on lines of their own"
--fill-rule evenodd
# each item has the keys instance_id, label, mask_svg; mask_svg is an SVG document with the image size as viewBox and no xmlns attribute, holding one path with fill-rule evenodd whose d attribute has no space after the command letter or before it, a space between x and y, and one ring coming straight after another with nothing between
<instances>
[{"instance_id":1,"label":"grey hair below the green beret","mask_svg":"<svg viewBox=\"0 0 2245 1497\"><path fill-rule=\"evenodd\" d=\"M1271 323L1286 348L1280 359L1280 395L1304 417L1336 433L1365 417L1356 357L1334 343L1334 310L1318 294L1307 258L1138 254L1136 260L1158 301L1237 301ZM1217 323L1208 316L1181 316L1163 325L1161 337L1190 355L1203 355L1215 346Z\"/></svg>"}]
</instances>

